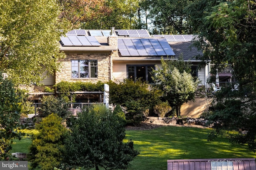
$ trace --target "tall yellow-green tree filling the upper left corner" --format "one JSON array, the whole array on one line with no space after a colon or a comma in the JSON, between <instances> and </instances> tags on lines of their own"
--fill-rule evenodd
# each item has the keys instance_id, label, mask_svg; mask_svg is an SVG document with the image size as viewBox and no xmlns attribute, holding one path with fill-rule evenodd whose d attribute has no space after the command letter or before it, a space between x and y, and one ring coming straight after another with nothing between
<instances>
[{"instance_id":1,"label":"tall yellow-green tree filling the upper left corner","mask_svg":"<svg viewBox=\"0 0 256 170\"><path fill-rule=\"evenodd\" d=\"M58 69L64 57L58 40L66 28L59 15L55 0L0 2L0 70L16 84L39 82Z\"/></svg>"}]
</instances>

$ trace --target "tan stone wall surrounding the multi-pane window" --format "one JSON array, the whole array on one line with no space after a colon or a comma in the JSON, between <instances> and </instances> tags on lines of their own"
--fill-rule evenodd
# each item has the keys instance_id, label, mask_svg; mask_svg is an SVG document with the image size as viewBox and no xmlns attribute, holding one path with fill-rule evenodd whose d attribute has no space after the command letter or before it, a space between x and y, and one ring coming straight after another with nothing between
<instances>
[{"instance_id":1,"label":"tan stone wall surrounding the multi-pane window","mask_svg":"<svg viewBox=\"0 0 256 170\"><path fill-rule=\"evenodd\" d=\"M66 53L66 58L60 60L60 71L56 72L56 84L68 82L108 82L110 80L110 53ZM97 60L98 78L71 78L71 60Z\"/></svg>"}]
</instances>

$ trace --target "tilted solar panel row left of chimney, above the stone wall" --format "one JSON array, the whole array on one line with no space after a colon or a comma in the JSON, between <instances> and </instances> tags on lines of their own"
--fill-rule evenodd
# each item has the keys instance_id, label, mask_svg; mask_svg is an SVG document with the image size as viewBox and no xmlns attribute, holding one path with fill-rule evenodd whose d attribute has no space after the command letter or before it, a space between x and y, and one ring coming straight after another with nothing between
<instances>
[{"instance_id":1,"label":"tilted solar panel row left of chimney, above the stone wall","mask_svg":"<svg viewBox=\"0 0 256 170\"><path fill-rule=\"evenodd\" d=\"M60 37L63 46L100 46L100 43L92 36L68 35L68 37Z\"/></svg>"}]
</instances>

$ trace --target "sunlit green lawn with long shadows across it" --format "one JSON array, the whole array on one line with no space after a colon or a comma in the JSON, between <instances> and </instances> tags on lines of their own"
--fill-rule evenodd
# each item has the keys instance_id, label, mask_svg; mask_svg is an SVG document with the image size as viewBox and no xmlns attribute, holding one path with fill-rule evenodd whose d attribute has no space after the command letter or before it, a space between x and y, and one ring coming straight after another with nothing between
<instances>
[{"instance_id":1,"label":"sunlit green lawn with long shadows across it","mask_svg":"<svg viewBox=\"0 0 256 170\"><path fill-rule=\"evenodd\" d=\"M168 159L256 157L254 152L246 150L246 145L229 143L226 137L207 141L210 131L211 129L174 126L126 131L125 142L132 139L134 148L140 152L128 170L166 170ZM12 152L28 152L30 143L28 138L16 141Z\"/></svg>"}]
</instances>

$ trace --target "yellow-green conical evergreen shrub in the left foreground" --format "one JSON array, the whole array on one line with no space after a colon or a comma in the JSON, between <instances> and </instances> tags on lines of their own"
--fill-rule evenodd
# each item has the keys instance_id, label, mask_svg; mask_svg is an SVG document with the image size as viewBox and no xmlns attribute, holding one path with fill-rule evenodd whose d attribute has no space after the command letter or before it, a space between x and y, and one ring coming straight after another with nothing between
<instances>
[{"instance_id":1,"label":"yellow-green conical evergreen shrub in the left foreground","mask_svg":"<svg viewBox=\"0 0 256 170\"><path fill-rule=\"evenodd\" d=\"M39 133L32 136L32 145L28 160L32 168L52 170L62 161L66 128L61 124L62 119L56 114L50 114L42 122L36 124Z\"/></svg>"}]
</instances>

